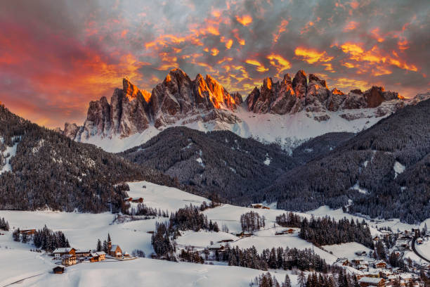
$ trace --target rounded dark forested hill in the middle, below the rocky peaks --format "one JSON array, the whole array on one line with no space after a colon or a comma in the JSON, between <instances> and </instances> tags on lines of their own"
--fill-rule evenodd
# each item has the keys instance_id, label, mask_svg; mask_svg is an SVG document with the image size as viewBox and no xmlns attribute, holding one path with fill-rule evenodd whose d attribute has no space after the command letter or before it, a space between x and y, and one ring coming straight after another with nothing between
<instances>
[{"instance_id":1,"label":"rounded dark forested hill in the middle, below the rocky peaks","mask_svg":"<svg viewBox=\"0 0 430 287\"><path fill-rule=\"evenodd\" d=\"M124 158L161 170L201 194L252 203L252 196L271 184L296 160L279 146L243 139L233 132L199 132L186 127L164 130L146 144L120 153Z\"/></svg>"}]
</instances>

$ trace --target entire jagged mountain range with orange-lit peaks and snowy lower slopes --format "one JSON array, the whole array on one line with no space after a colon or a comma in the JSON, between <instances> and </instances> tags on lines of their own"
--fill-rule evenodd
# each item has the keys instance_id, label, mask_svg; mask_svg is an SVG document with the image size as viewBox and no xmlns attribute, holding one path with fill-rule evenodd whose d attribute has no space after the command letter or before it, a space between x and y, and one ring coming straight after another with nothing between
<instances>
[{"instance_id":1,"label":"entire jagged mountain range with orange-lit peaks and snowy lower slopes","mask_svg":"<svg viewBox=\"0 0 430 287\"><path fill-rule=\"evenodd\" d=\"M423 96L422 98L427 98ZM128 79L108 103L91 101L84 125L66 123L70 139L119 152L143 144L166 127L185 126L203 132L229 130L290 149L327 132L360 132L412 101L383 87L344 94L303 70L280 82L266 78L242 102L210 75L193 80L181 69L169 72L152 93Z\"/></svg>"}]
</instances>

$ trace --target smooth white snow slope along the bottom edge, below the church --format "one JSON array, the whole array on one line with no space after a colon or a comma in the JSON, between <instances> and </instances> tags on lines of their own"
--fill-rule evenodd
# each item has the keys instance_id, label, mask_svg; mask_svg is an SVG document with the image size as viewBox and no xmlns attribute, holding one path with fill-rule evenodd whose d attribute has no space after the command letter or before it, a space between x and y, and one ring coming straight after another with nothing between
<instances>
[{"instance_id":1,"label":"smooth white snow slope along the bottom edge, below the church","mask_svg":"<svg viewBox=\"0 0 430 287\"><path fill-rule=\"evenodd\" d=\"M249 286L263 272L241 267L174 263L137 259L128 262L77 264L65 274L44 274L25 280L21 286ZM275 273L273 273L275 274ZM283 281L286 272L275 274ZM297 276L290 276L296 285Z\"/></svg>"}]
</instances>

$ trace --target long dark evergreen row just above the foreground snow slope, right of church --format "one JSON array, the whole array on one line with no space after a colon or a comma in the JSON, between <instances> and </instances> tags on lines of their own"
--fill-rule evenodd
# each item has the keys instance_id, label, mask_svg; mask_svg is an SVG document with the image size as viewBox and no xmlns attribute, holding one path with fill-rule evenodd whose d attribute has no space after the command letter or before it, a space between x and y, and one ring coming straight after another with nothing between
<instances>
[{"instance_id":1,"label":"long dark evergreen row just above the foreground snow slope, right of church","mask_svg":"<svg viewBox=\"0 0 430 287\"><path fill-rule=\"evenodd\" d=\"M227 247L226 250L216 254L221 261L227 261L230 266L240 266L252 269L293 269L315 270L327 273L332 268L319 255L311 249L299 250L297 248L272 248L265 249L259 254L254 246L240 249Z\"/></svg>"}]
</instances>

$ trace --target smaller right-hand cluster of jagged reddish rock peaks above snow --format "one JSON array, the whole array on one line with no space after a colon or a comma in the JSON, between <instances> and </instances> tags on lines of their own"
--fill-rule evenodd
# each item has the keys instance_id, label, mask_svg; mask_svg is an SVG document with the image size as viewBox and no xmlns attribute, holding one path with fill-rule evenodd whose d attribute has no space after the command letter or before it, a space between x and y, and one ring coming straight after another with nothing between
<instances>
[{"instance_id":1,"label":"smaller right-hand cluster of jagged reddish rock peaks above snow","mask_svg":"<svg viewBox=\"0 0 430 287\"><path fill-rule=\"evenodd\" d=\"M284 115L301 110L324 113L327 110L377 108L384 101L395 99L402 98L396 92L384 91L383 87L372 87L365 92L356 89L348 94L336 88L330 91L324 79L313 74L307 77L303 70L299 70L293 79L288 74L280 82L264 79L260 89L255 87L245 101L248 110L254 113ZM318 118L327 120L330 117L318 115Z\"/></svg>"}]
</instances>

